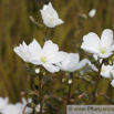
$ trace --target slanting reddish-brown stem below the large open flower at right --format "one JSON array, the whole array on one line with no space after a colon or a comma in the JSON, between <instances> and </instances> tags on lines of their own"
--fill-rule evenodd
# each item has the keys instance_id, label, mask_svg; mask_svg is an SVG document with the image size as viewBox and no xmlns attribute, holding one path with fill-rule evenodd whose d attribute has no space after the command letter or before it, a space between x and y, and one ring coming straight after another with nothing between
<instances>
[{"instance_id":1,"label":"slanting reddish-brown stem below the large open flower at right","mask_svg":"<svg viewBox=\"0 0 114 114\"><path fill-rule=\"evenodd\" d=\"M102 63L100 64L100 69L99 69L99 75L97 75L97 79L96 79L96 86L95 86L95 90L93 92L93 101L92 101L92 104L94 104L96 102L96 91L97 91L97 85L99 85L99 82L100 82L100 73L101 73L101 70L102 70L102 65L104 63L104 59L102 60Z\"/></svg>"}]
</instances>

